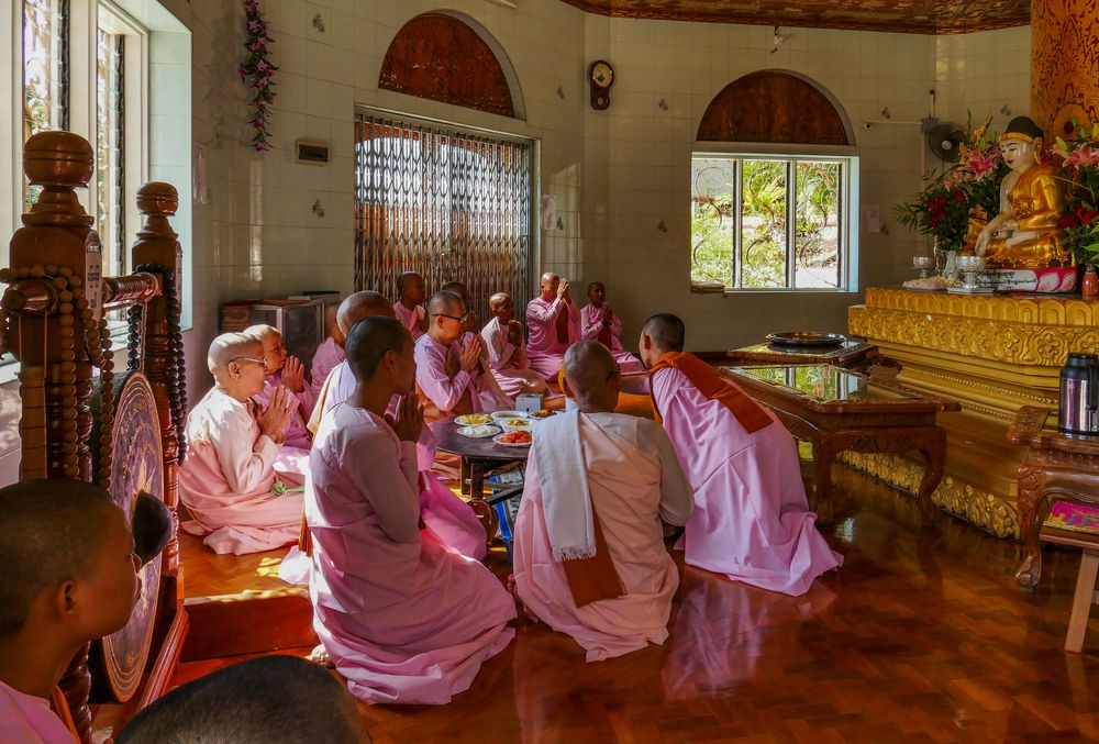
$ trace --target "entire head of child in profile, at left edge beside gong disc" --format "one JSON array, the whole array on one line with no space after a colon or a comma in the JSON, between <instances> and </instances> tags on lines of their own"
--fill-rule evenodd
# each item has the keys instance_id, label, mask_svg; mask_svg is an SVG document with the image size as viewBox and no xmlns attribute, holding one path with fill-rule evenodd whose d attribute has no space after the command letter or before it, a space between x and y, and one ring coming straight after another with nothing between
<instances>
[{"instance_id":1,"label":"entire head of child in profile, at left edge beside gong disc","mask_svg":"<svg viewBox=\"0 0 1099 744\"><path fill-rule=\"evenodd\" d=\"M130 620L138 558L111 496L68 478L0 489L0 642L80 644Z\"/></svg>"}]
</instances>

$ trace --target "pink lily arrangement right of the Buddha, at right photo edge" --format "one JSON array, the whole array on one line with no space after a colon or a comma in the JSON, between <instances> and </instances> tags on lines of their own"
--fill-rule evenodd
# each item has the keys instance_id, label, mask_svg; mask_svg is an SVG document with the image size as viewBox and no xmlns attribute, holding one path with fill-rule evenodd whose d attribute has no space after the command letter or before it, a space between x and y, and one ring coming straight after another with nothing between
<instances>
[{"instance_id":1,"label":"pink lily arrangement right of the Buddha, at right photo edge","mask_svg":"<svg viewBox=\"0 0 1099 744\"><path fill-rule=\"evenodd\" d=\"M1076 140L1057 137L1053 154L1062 159L1058 178L1069 184L1067 213L1057 223L1080 263L1099 262L1099 124L1078 126Z\"/></svg>"}]
</instances>

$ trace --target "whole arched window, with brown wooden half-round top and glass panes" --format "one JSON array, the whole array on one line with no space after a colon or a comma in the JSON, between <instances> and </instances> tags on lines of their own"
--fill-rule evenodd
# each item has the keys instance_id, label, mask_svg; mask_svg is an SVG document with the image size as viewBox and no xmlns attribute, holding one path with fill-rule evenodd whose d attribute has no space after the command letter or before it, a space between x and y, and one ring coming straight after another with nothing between
<instances>
[{"instance_id":1,"label":"whole arched window, with brown wooden half-round top and glass panes","mask_svg":"<svg viewBox=\"0 0 1099 744\"><path fill-rule=\"evenodd\" d=\"M852 144L843 111L801 76L764 70L725 86L691 157L691 281L854 289Z\"/></svg>"}]
</instances>

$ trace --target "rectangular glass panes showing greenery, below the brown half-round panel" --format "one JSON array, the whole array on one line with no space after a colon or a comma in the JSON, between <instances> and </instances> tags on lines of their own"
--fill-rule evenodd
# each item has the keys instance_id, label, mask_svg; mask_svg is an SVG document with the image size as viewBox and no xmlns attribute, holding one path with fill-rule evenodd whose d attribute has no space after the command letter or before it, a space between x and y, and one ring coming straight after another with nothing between
<instances>
[{"instance_id":1,"label":"rectangular glass panes showing greenery, below the brown half-round panel","mask_svg":"<svg viewBox=\"0 0 1099 744\"><path fill-rule=\"evenodd\" d=\"M847 289L852 168L843 157L696 154L691 280Z\"/></svg>"}]
</instances>

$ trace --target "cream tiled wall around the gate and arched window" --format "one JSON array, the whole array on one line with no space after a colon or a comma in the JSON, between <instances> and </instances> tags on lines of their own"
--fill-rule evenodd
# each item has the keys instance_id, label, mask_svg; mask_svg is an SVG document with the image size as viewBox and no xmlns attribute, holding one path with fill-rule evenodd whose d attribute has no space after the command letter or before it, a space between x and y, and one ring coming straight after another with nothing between
<instances>
[{"instance_id":1,"label":"cream tiled wall around the gate and arched window","mask_svg":"<svg viewBox=\"0 0 1099 744\"><path fill-rule=\"evenodd\" d=\"M858 122L879 118L884 108L895 119L919 120L928 110L928 90L936 86L941 107L952 116L966 107L998 109L1002 96L987 92L989 80L1003 95L1017 91L1004 100L1022 110L1029 86L1025 62L991 74L985 62L958 67L969 55L995 59L999 52L1021 48L1029 30L936 40L792 29L771 53L771 30L763 26L609 19L558 0L523 0L519 10L448 0L447 11L475 19L509 56L526 110L525 121L519 121L377 89L397 31L417 14L439 10L437 0L260 0L280 69L275 149L255 153L245 146L251 130L236 75L243 3L163 2L191 30L191 143L176 147L201 147L207 158L208 193L192 206L191 240L185 244L192 254L193 330L186 334L192 402L209 385L206 347L217 332L219 302L353 289L356 104L537 140L540 189L556 199L562 225L542 234L543 266L581 284L604 280L631 337L647 314L668 310L687 320L691 348L717 349L780 329L842 330L846 307L857 301L847 293L689 292L690 153L702 112L725 85L759 69L792 70L840 102L855 127L859 200L879 207L889 231L859 234L864 287L909 276L909 257L922 244L890 219L892 204L919 186L921 144L914 125L864 131ZM318 15L323 32L313 24ZM588 106L586 85L587 66L597 58L610 60L617 71L611 106L601 112ZM170 58L154 62L171 71ZM181 77L166 77L164 85L178 87ZM662 99L666 111L658 107ZM329 142L331 164L293 164L291 146L299 138ZM191 188L186 173L176 176L180 190ZM323 218L311 211L318 200ZM666 232L658 230L662 222ZM3 451L0 443L0 480Z\"/></svg>"}]
</instances>

